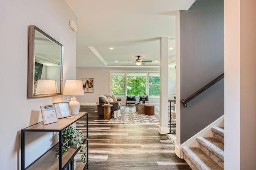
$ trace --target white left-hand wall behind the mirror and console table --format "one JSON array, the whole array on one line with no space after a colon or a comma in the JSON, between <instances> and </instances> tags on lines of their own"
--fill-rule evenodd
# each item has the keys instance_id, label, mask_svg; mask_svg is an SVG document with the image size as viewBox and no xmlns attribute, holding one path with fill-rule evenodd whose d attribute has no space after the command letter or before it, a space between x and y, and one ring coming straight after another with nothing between
<instances>
[{"instance_id":1,"label":"white left-hand wall behind the mirror and console table","mask_svg":"<svg viewBox=\"0 0 256 170\"><path fill-rule=\"evenodd\" d=\"M0 169L19 169L20 129L42 121L40 106L63 101L62 95L27 99L28 26L35 25L64 45L64 80L75 79L76 16L64 0L0 1L1 119ZM52 133L26 136L26 164L56 142Z\"/></svg>"}]
</instances>

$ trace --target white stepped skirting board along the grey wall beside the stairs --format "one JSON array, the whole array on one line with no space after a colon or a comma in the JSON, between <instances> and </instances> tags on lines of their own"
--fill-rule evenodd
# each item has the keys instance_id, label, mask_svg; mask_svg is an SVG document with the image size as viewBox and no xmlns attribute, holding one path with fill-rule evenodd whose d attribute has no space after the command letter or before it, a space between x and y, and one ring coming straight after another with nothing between
<instances>
[{"instance_id":1,"label":"white stepped skirting board along the grey wall beside the stairs","mask_svg":"<svg viewBox=\"0 0 256 170\"><path fill-rule=\"evenodd\" d=\"M180 156L177 156L179 158L183 158L183 153L181 149L183 147L198 147L198 142L196 141L196 138L198 137L212 137L212 130L211 127L224 127L224 115L222 115L219 119L208 125L206 128L202 129L200 132L189 138L186 142L180 145L179 151L177 148L177 152L180 154ZM176 146L175 146L175 152L176 152Z\"/></svg>"}]
</instances>

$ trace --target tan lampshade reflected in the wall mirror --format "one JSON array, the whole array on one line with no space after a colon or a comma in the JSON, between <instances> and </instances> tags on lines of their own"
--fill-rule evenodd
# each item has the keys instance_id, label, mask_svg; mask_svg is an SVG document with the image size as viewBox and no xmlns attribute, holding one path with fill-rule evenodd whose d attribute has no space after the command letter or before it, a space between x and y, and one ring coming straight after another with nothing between
<instances>
[{"instance_id":1,"label":"tan lampshade reflected in the wall mirror","mask_svg":"<svg viewBox=\"0 0 256 170\"><path fill-rule=\"evenodd\" d=\"M36 95L56 93L58 93L58 86L56 80L38 80L36 86Z\"/></svg>"}]
</instances>

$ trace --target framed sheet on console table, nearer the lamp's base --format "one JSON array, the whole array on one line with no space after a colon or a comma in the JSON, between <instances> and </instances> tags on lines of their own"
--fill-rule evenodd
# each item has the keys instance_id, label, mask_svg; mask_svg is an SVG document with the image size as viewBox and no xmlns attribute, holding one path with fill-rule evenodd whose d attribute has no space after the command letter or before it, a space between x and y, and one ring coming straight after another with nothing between
<instances>
[{"instance_id":1,"label":"framed sheet on console table, nearer the lamp's base","mask_svg":"<svg viewBox=\"0 0 256 170\"><path fill-rule=\"evenodd\" d=\"M53 103L53 104L55 106L55 111L58 119L71 116L69 102L61 102L61 103Z\"/></svg>"}]
</instances>

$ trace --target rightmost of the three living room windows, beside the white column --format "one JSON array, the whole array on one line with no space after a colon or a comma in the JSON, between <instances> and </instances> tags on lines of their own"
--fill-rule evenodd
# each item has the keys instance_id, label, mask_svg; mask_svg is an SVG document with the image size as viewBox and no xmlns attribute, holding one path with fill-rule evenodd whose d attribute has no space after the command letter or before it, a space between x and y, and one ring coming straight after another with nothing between
<instances>
[{"instance_id":1,"label":"rightmost of the three living room windows, beside the white column","mask_svg":"<svg viewBox=\"0 0 256 170\"><path fill-rule=\"evenodd\" d=\"M160 76L159 73L149 73L148 74L148 95L159 96L160 95Z\"/></svg>"}]
</instances>

